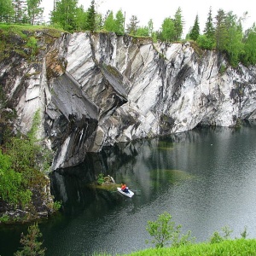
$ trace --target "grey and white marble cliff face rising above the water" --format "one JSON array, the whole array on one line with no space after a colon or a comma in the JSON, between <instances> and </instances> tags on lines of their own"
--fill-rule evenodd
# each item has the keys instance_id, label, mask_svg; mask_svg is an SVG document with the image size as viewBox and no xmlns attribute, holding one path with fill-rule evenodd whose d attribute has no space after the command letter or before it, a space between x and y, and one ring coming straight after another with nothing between
<instances>
[{"instance_id":1,"label":"grey and white marble cliff face rising above the water","mask_svg":"<svg viewBox=\"0 0 256 256\"><path fill-rule=\"evenodd\" d=\"M26 132L41 110L53 170L117 142L233 126L256 115L255 67L233 69L218 52L199 55L189 43L113 33L63 34L37 64L20 56L3 61L0 83L17 129Z\"/></svg>"}]
</instances>

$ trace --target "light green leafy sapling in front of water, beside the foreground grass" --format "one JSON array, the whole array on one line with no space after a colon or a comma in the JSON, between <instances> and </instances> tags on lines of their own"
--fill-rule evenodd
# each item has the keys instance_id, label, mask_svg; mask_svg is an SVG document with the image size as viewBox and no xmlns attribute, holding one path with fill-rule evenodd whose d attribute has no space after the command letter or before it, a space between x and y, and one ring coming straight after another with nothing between
<instances>
[{"instance_id":1,"label":"light green leafy sapling in front of water, beside the foreground grass","mask_svg":"<svg viewBox=\"0 0 256 256\"><path fill-rule=\"evenodd\" d=\"M190 231L181 235L181 225L176 225L168 212L159 215L156 221L148 221L146 230L153 237L151 243L156 248L171 244L172 247L180 247L190 243ZM148 243L148 241L146 241Z\"/></svg>"}]
</instances>

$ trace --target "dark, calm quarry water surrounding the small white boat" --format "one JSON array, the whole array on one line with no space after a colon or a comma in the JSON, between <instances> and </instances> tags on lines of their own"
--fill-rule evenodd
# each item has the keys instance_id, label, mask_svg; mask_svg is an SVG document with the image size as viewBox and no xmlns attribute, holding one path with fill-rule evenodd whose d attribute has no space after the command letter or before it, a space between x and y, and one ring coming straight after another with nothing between
<instances>
[{"instance_id":1,"label":"dark, calm quarry water surrounding the small white boat","mask_svg":"<svg viewBox=\"0 0 256 256\"><path fill-rule=\"evenodd\" d=\"M130 253L149 247L146 225L162 212L207 241L229 226L256 237L256 126L204 128L138 140L90 154L80 166L52 175L61 214L40 223L46 255ZM89 189L99 173L125 182L130 199ZM13 255L26 226L0 228L0 254Z\"/></svg>"}]
</instances>

